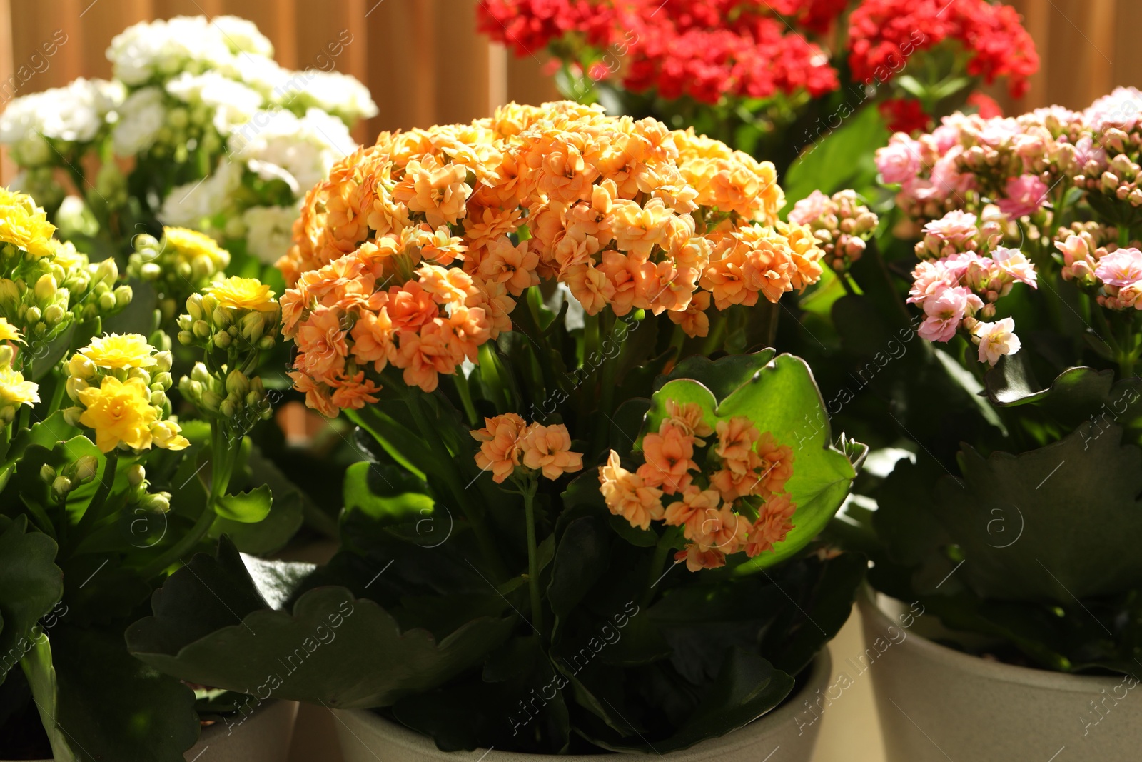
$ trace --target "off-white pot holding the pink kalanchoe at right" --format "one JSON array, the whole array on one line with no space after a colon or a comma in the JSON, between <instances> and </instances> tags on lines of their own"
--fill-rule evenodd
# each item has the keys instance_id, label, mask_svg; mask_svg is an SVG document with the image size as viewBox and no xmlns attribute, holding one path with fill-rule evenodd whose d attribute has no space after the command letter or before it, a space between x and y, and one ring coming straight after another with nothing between
<instances>
[{"instance_id":1,"label":"off-white pot holding the pink kalanchoe at right","mask_svg":"<svg viewBox=\"0 0 1142 762\"><path fill-rule=\"evenodd\" d=\"M886 613L895 607L883 595L860 596L866 651L853 663L872 674L887 762L1139 759L1142 689L1134 677L970 656L916 632L939 631L933 615L915 616L919 607Z\"/></svg>"}]
</instances>

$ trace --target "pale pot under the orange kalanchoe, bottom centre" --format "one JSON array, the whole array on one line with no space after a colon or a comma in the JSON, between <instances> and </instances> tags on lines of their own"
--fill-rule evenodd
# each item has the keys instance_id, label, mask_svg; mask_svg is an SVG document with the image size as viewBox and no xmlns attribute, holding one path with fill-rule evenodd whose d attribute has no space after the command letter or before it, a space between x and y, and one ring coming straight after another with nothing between
<instances>
[{"instance_id":1,"label":"pale pot under the orange kalanchoe, bottom centre","mask_svg":"<svg viewBox=\"0 0 1142 762\"><path fill-rule=\"evenodd\" d=\"M831 673L831 660L828 651L822 651L812 665L809 681L790 696L781 706L751 723L722 738L711 738L682 752L665 755L670 762L698 762L699 760L718 760L718 762L810 762L813 747L817 745L819 723L797 722L797 715L806 709L803 703L818 690L823 690ZM337 735L341 741L341 753L345 762L439 762L447 760L456 762L464 759L481 760L481 762L540 762L552 760L557 762L598 762L601 755L555 756L547 754L518 754L476 749L468 754L442 752L436 748L427 736L413 732L408 728L389 722L376 712L354 709L335 711L340 721L337 723ZM602 756L619 757L625 755L608 754ZM640 759L643 755L638 755Z\"/></svg>"}]
</instances>

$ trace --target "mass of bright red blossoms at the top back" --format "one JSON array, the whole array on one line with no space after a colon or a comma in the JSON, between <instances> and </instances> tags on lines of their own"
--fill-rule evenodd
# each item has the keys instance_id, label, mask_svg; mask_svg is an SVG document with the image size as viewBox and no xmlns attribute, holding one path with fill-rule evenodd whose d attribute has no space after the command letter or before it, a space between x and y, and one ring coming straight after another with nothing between
<instances>
[{"instance_id":1,"label":"mass of bright red blossoms at the top back","mask_svg":"<svg viewBox=\"0 0 1142 762\"><path fill-rule=\"evenodd\" d=\"M1039 64L1019 15L990 0L482 0L478 8L481 30L517 56L547 48L562 61L576 95L589 91L589 78L666 101L739 98L754 110L750 102L780 98L796 107L842 88L838 69L854 89L877 88L924 53L939 81L912 78L911 88L894 88L880 103L903 131L926 128L925 107L981 81L1007 78L1018 97ZM830 61L834 46L847 49L846 67ZM962 85L949 91L949 82ZM995 102L984 96L978 105ZM757 113L759 123L774 119Z\"/></svg>"}]
</instances>

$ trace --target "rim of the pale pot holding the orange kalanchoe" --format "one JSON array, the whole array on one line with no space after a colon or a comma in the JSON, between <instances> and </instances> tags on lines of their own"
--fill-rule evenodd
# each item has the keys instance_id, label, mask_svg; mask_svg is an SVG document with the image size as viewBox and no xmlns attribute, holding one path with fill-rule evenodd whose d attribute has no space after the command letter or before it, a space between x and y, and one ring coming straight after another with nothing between
<instances>
[{"instance_id":1,"label":"rim of the pale pot holding the orange kalanchoe","mask_svg":"<svg viewBox=\"0 0 1142 762\"><path fill-rule=\"evenodd\" d=\"M733 748L740 747L743 741L750 740L754 736L762 735L766 729L773 728L780 724L781 722L793 722L795 716L804 711L798 705L797 699L803 695L807 696L809 693L806 691L811 692L817 688L827 685L830 676L833 675L833 657L831 653L829 652L828 644L826 644L826 647L821 649L817 656L813 657L813 661L807 667L807 671L809 671L809 679L802 685L801 690L787 696L786 699L773 711L763 714L762 716L757 717L756 720L753 720L748 724L738 728L737 730L733 730L724 736L719 736L717 738L709 738L705 741L701 741L700 744L691 746L689 749L679 749L679 752L668 752L668 754L671 753L685 754L686 752L691 752L699 748L703 754L716 751L732 751ZM393 740L395 744L400 745L402 748L405 748L410 752L419 752L421 754L429 753L437 755L453 754L451 752L441 752L440 749L437 749L435 741L433 741L433 739L429 736L424 736L412 730L411 728L405 728L404 725L397 722L393 722L387 717L383 717L381 715L377 714L371 709L333 709L335 716L339 714L353 715L359 721L365 724L380 725L384 729L381 732L388 736L388 738ZM346 729L349 730L349 732L352 732L352 729L348 728L348 725L345 723L344 720L341 720L340 717L338 717L338 720ZM361 739L357 738L357 740L360 741ZM478 754L486 755L490 751L491 749L485 749L481 747L471 753L477 755ZM635 756L635 755L637 755L637 752L603 753L598 755L593 755L590 757L585 755L558 756L553 754L525 754L521 752L499 752L496 759L498 762L537 762L537 760L545 760L549 757L553 760L569 760L569 762L573 762L574 760L605 759L608 756L610 756L611 759L617 759L620 756ZM481 756L480 759L483 757ZM707 757L703 756L702 759Z\"/></svg>"}]
</instances>

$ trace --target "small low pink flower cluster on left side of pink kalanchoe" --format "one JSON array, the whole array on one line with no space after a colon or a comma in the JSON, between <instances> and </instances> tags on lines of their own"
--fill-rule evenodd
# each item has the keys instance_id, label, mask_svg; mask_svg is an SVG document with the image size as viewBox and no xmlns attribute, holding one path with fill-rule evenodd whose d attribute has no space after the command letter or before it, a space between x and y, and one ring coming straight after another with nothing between
<instances>
[{"instance_id":1,"label":"small low pink flower cluster on left side of pink kalanchoe","mask_svg":"<svg viewBox=\"0 0 1142 762\"><path fill-rule=\"evenodd\" d=\"M1011 318L987 319L1015 283L1038 288L1038 281L1035 265L1021 251L998 244L1003 234L996 218L1003 214L989 207L983 218L981 225L975 215L956 210L924 226L908 302L924 312L920 338L948 342L963 329L979 345L980 362L994 366L1021 344Z\"/></svg>"}]
</instances>

